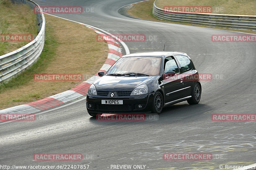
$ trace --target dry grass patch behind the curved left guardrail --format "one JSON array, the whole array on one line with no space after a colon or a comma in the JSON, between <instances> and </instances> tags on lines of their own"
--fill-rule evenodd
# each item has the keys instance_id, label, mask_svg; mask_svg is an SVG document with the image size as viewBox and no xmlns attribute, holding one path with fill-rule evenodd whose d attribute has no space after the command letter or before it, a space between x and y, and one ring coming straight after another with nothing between
<instances>
[{"instance_id":1,"label":"dry grass patch behind the curved left guardrail","mask_svg":"<svg viewBox=\"0 0 256 170\"><path fill-rule=\"evenodd\" d=\"M12 4L10 0L0 0L0 34L32 34L36 36L36 14L27 4ZM12 52L28 42L0 41L0 55Z\"/></svg>"}]
</instances>

